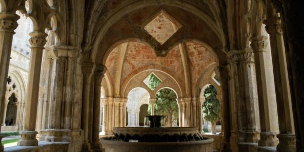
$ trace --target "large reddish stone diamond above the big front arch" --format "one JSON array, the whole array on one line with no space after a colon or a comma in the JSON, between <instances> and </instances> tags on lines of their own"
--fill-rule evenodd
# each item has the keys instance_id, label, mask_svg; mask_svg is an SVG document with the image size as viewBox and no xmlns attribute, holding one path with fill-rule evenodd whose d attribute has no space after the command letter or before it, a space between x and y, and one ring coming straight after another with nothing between
<instances>
[{"instance_id":1,"label":"large reddish stone diamond above the big front arch","mask_svg":"<svg viewBox=\"0 0 304 152\"><path fill-rule=\"evenodd\" d=\"M165 14L160 13L156 18L144 26L144 29L160 44L164 44L175 33L174 26L177 30L177 25L171 22Z\"/></svg>"}]
</instances>

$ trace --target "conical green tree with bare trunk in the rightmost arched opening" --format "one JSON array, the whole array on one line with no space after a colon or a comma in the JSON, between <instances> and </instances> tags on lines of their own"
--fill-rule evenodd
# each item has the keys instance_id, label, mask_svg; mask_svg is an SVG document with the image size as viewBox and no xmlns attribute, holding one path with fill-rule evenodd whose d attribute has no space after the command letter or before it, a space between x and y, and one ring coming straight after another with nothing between
<instances>
[{"instance_id":1,"label":"conical green tree with bare trunk in the rightmost arched opening","mask_svg":"<svg viewBox=\"0 0 304 152\"><path fill-rule=\"evenodd\" d=\"M204 92L205 102L202 106L204 119L211 122L212 134L216 134L215 123L220 120L220 105L216 95L216 88L212 85L208 86Z\"/></svg>"}]
</instances>

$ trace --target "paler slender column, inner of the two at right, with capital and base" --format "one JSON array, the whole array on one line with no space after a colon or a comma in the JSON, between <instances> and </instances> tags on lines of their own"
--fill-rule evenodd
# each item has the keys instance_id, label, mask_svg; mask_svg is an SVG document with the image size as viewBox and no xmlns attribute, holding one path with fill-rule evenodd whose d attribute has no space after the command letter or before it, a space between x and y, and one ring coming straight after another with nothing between
<instances>
[{"instance_id":1,"label":"paler slender column, inner of the two at right, with capital and base","mask_svg":"<svg viewBox=\"0 0 304 152\"><path fill-rule=\"evenodd\" d=\"M271 73L268 69L268 58L265 56L268 43L267 36L251 38L251 48L254 51L256 68L257 91L260 115L260 140L259 146L277 146L278 112L276 98L274 97L274 83L271 82Z\"/></svg>"}]
</instances>

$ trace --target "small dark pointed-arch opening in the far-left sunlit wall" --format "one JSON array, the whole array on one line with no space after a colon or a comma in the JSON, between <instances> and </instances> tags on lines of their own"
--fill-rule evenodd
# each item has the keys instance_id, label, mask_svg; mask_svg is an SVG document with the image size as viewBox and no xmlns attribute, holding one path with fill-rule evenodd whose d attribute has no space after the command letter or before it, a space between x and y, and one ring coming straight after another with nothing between
<instances>
[{"instance_id":1,"label":"small dark pointed-arch opening in the far-left sunlit wall","mask_svg":"<svg viewBox=\"0 0 304 152\"><path fill-rule=\"evenodd\" d=\"M7 106L7 112L6 112L6 118L5 118L5 124L6 126L14 126L16 123L17 118L17 98L15 94L13 93L9 97L9 103Z\"/></svg>"}]
</instances>

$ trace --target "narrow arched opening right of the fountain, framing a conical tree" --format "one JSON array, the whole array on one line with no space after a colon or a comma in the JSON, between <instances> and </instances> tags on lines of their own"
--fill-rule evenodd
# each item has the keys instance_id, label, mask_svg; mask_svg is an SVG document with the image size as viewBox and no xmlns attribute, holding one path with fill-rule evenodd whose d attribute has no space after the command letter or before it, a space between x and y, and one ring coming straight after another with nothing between
<instances>
[{"instance_id":1,"label":"narrow arched opening right of the fountain, framing a conical tree","mask_svg":"<svg viewBox=\"0 0 304 152\"><path fill-rule=\"evenodd\" d=\"M206 134L219 134L221 132L221 111L217 98L217 90L211 85L205 85L201 90L203 131Z\"/></svg>"}]
</instances>

